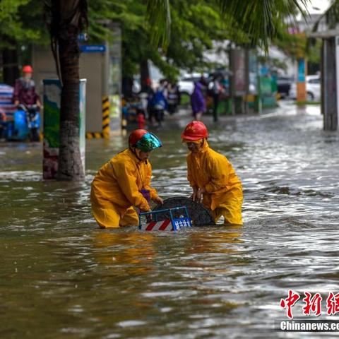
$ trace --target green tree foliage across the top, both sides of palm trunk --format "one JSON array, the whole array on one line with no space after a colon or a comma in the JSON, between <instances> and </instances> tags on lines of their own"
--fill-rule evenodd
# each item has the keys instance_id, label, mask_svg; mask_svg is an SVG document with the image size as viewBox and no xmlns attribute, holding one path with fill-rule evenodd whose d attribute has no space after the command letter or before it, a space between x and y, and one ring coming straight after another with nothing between
<instances>
[{"instance_id":1,"label":"green tree foliage across the top, both sides of palm trunk","mask_svg":"<svg viewBox=\"0 0 339 339\"><path fill-rule=\"evenodd\" d=\"M230 40L237 45L267 47L268 40L285 44L295 54L295 42L283 36L297 11L308 0L90 0L90 43L109 38L110 20L121 25L124 76L138 73L139 64L151 60L167 77L178 69L208 69L204 57L214 42ZM49 44L41 0L1 0L0 48L17 44ZM49 0L50 2L50 0ZM170 28L170 34L169 34ZM285 42L283 42L285 41ZM161 48L159 48L161 47ZM165 53L165 52L166 53Z\"/></svg>"}]
</instances>

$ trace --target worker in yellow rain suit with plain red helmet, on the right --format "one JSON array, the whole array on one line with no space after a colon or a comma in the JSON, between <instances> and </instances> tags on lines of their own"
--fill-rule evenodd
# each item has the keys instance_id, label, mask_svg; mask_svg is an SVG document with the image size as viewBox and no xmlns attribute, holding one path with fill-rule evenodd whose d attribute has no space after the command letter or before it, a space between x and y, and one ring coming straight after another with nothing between
<instances>
[{"instance_id":1,"label":"worker in yellow rain suit with plain red helmet, on the right","mask_svg":"<svg viewBox=\"0 0 339 339\"><path fill-rule=\"evenodd\" d=\"M208 208L217 222L223 215L225 224L242 225L242 183L224 155L208 146L208 131L201 121L192 121L182 133L187 144L187 179L192 198Z\"/></svg>"}]
</instances>

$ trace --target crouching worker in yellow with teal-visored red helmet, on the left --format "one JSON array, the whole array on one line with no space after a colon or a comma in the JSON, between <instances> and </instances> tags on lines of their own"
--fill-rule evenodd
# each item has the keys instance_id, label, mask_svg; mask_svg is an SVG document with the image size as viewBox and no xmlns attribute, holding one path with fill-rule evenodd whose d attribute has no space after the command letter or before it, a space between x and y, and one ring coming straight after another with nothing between
<instances>
[{"instance_id":1,"label":"crouching worker in yellow with teal-visored red helmet, on the left","mask_svg":"<svg viewBox=\"0 0 339 339\"><path fill-rule=\"evenodd\" d=\"M163 203L150 186L150 152L162 146L157 136L136 129L129 136L129 148L112 157L95 175L90 192L92 213L102 228L138 225L138 214L150 210L150 199Z\"/></svg>"}]
</instances>

